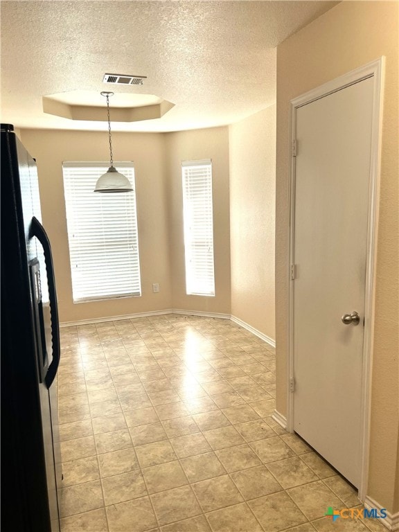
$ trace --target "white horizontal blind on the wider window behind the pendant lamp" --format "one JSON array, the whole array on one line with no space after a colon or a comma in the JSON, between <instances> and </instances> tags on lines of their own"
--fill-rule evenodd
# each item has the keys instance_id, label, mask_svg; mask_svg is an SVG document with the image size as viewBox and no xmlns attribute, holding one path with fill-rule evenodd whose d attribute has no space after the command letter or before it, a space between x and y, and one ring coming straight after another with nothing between
<instances>
[{"instance_id":1,"label":"white horizontal blind on the wider window behind the pendant lamp","mask_svg":"<svg viewBox=\"0 0 399 532\"><path fill-rule=\"evenodd\" d=\"M64 162L73 301L141 295L136 193L94 193L108 163ZM133 163L115 163L134 188Z\"/></svg>"}]
</instances>

